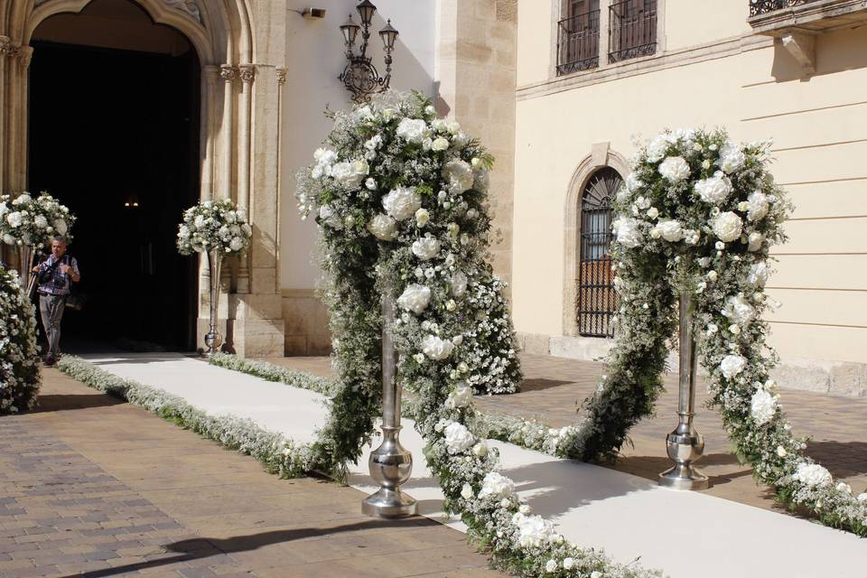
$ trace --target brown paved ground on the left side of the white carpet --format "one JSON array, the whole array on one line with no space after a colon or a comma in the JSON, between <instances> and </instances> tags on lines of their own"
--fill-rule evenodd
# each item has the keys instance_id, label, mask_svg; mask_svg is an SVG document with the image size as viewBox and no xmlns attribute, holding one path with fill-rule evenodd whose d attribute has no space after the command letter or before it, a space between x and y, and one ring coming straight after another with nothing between
<instances>
[{"instance_id":1,"label":"brown paved ground on the left side of the white carpet","mask_svg":"<svg viewBox=\"0 0 867 578\"><path fill-rule=\"evenodd\" d=\"M0 417L0 576L495 577L424 517L279 480L217 443L45 370L40 410Z\"/></svg>"}]
</instances>

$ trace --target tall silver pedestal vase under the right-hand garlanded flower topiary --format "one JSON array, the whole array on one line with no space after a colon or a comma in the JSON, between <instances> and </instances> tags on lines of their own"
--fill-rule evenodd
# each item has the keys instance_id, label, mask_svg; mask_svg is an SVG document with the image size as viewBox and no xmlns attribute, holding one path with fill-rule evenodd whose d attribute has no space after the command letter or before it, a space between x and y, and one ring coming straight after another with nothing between
<instances>
[{"instance_id":1,"label":"tall silver pedestal vase under the right-hand garlanded flower topiary","mask_svg":"<svg viewBox=\"0 0 867 578\"><path fill-rule=\"evenodd\" d=\"M702 457L704 437L695 431L695 302L689 290L680 292L680 389L677 396L678 424L666 439L668 457L675 465L659 474L659 485L674 489L705 489L707 476L693 463Z\"/></svg>"}]
</instances>

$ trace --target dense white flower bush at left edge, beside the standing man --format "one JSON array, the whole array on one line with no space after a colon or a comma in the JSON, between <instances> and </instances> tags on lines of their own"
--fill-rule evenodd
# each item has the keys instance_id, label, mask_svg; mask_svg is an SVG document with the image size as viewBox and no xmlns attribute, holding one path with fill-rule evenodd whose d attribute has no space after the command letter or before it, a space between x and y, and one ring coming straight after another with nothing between
<instances>
[{"instance_id":1,"label":"dense white flower bush at left edge, beside the standing man","mask_svg":"<svg viewBox=\"0 0 867 578\"><path fill-rule=\"evenodd\" d=\"M41 377L36 315L14 271L0 266L0 415L36 405Z\"/></svg>"}]
</instances>

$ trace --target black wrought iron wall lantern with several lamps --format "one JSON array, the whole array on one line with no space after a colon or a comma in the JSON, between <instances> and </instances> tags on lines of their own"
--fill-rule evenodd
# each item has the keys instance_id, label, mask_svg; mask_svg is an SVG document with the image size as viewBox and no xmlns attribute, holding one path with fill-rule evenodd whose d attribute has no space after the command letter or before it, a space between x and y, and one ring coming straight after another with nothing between
<instances>
[{"instance_id":1,"label":"black wrought iron wall lantern with several lamps","mask_svg":"<svg viewBox=\"0 0 867 578\"><path fill-rule=\"evenodd\" d=\"M383 50L386 52L386 74L380 77L377 68L371 62L368 56L368 41L370 39L370 23L373 21L373 14L377 12L377 7L370 0L362 0L357 6L361 25L352 20L352 14L346 23L340 26L340 32L343 33L343 42L346 44L346 67L340 73L340 81L352 93L352 100L355 102L365 102L372 95L378 92L384 92L388 89L391 82L391 52L395 50L395 42L397 40L397 31L391 25L389 20L386 26L379 31L379 37L382 39ZM355 40L358 37L359 30L361 32L361 48L359 54L355 53Z\"/></svg>"}]
</instances>

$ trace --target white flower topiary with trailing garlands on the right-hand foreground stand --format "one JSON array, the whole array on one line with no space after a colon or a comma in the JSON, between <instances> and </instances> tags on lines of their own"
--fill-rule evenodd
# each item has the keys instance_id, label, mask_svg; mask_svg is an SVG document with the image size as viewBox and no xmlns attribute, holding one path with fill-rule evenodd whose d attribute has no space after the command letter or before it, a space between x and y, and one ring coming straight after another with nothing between
<instances>
[{"instance_id":1,"label":"white flower topiary with trailing garlands on the right-hand foreground stand","mask_svg":"<svg viewBox=\"0 0 867 578\"><path fill-rule=\"evenodd\" d=\"M612 244L620 293L617 344L590 413L566 455L616 451L647 415L675 338L676 293L695 295L701 363L739 458L778 500L823 523L867 536L867 493L805 455L769 370L765 284L769 247L785 240L790 203L768 171L769 144L733 144L723 131L676 130L639 150L615 200Z\"/></svg>"}]
</instances>

